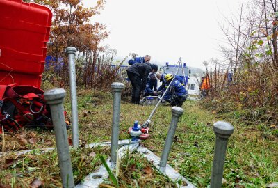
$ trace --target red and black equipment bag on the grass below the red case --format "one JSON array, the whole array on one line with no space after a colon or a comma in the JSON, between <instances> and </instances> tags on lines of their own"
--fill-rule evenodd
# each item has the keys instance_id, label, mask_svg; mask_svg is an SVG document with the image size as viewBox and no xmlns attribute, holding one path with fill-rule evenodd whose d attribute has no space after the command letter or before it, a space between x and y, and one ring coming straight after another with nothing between
<instances>
[{"instance_id":1,"label":"red and black equipment bag on the grass below the red case","mask_svg":"<svg viewBox=\"0 0 278 188\"><path fill-rule=\"evenodd\" d=\"M44 91L35 86L0 85L0 133L21 127L53 127Z\"/></svg>"}]
</instances>

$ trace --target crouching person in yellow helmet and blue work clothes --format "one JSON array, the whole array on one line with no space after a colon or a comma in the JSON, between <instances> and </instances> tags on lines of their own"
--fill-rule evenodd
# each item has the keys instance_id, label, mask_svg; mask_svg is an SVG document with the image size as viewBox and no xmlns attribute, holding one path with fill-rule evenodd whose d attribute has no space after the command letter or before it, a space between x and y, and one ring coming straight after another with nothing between
<instances>
[{"instance_id":1,"label":"crouching person in yellow helmet and blue work clothes","mask_svg":"<svg viewBox=\"0 0 278 188\"><path fill-rule=\"evenodd\" d=\"M163 100L169 102L171 106L181 107L186 101L186 88L173 75L165 75L166 84L169 86L167 93L165 93Z\"/></svg>"}]
</instances>

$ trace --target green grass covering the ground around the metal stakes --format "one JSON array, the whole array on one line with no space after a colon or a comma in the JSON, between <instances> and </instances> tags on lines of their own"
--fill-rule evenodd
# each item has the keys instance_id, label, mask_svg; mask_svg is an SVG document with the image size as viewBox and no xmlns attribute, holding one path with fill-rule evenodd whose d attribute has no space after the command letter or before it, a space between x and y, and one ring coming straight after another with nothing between
<instances>
[{"instance_id":1,"label":"green grass covering the ground around the metal stakes","mask_svg":"<svg viewBox=\"0 0 278 188\"><path fill-rule=\"evenodd\" d=\"M113 96L111 93L104 91L79 91L79 138L81 143L111 141L112 102ZM68 117L70 117L69 92L65 100L65 109L68 113ZM130 104L129 99L122 100L120 112L120 139L129 139L129 134L127 134L128 128L133 125L135 120L138 120L139 123L144 123L152 112L152 109L154 109L154 107L142 107ZM213 123L218 120L225 120L234 125L234 134L231 135L227 147L223 187L265 187L268 183L277 182L278 139L277 136L273 134L273 132L275 132L274 130L270 130L262 124L249 125L249 123L245 123L239 118L240 112L234 111L217 114L214 111L206 111L206 109L199 107L198 102L186 101L183 104L183 110L184 113L177 125L168 164L179 171L179 173L190 182L197 187L207 187L209 185L215 145ZM144 146L152 150L159 157L163 150L171 116L170 106L158 107L158 110L152 118L152 124L150 125L151 136L147 141L142 141ZM22 132L18 132L17 134L25 134L25 138L28 141L28 139L32 137L30 136L31 132L38 138L38 142L35 144L29 142L27 142L27 144L21 143L16 134L6 134L5 150L55 146L53 131L22 130ZM71 130L68 130L68 136L72 136ZM79 156L88 155L88 151L82 152L81 150L77 150L76 152L79 153ZM107 149L106 151L99 149L98 152L95 152L97 155L102 155L103 153L108 155L109 153ZM53 157L54 153L49 155ZM32 159L40 162L40 160L44 159L43 156L44 155L35 155ZM73 166L82 166L78 165L76 161L80 158L74 158L75 157L72 157L73 162L76 162L76 164ZM22 158L20 159L22 160ZM151 186L152 180L158 182L154 184L154 187L159 187L159 185L171 185L167 178L161 177L159 173L155 171L152 173L153 176L149 178L149 176L142 171L142 169L147 166L139 168L139 165L139 167L137 166L138 169L133 170L134 164L130 164L131 159L136 162L136 165L137 163L138 165L143 163L154 169L152 164L148 164L142 156L136 153L129 156L128 159L123 159L119 176L119 183L122 187L135 187L136 184L142 187L144 183L146 183L146 179L150 181L147 182L149 186ZM95 166L101 163L99 158L94 160ZM51 163L49 163L49 165L50 164ZM56 165L57 162L53 163L51 168L57 168ZM16 164L16 173L14 174L20 171L17 169L19 166L20 165ZM90 170L94 170L96 168L95 166L92 166ZM15 180L15 184L18 184L20 187L19 182L24 182L24 178L26 177L13 175L14 169L10 168L11 167L5 169L5 172L1 171L2 176L0 176L0 182L8 183ZM42 169L44 168L40 167L40 171L42 171ZM81 176L89 171L87 171L86 168L74 167L74 169L79 169L74 170L76 181L79 181ZM131 169L131 171L129 171L129 169ZM58 169L55 171L58 171ZM3 176L5 173L9 175ZM58 184L58 182L60 182L59 175L57 173L51 173L51 171L48 173L50 177L56 178L52 178L52 180L47 175L39 176L46 182L46 185L60 185ZM31 172L30 176L34 178L37 177L38 174ZM30 182L32 178L27 178L29 180L28 182ZM134 178L136 181L133 180ZM144 181L141 181L141 179Z\"/></svg>"}]
</instances>

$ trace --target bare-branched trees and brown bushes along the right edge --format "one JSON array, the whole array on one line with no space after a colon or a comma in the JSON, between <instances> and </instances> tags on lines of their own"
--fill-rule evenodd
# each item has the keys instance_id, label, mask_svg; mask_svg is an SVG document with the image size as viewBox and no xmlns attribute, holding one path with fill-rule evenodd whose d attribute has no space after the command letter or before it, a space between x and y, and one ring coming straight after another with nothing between
<instances>
[{"instance_id":1,"label":"bare-branched trees and brown bushes along the right edge","mask_svg":"<svg viewBox=\"0 0 278 188\"><path fill-rule=\"evenodd\" d=\"M238 15L223 19L226 61L204 62L211 80L204 107L217 113L237 111L244 123L277 128L277 3L242 1Z\"/></svg>"}]
</instances>

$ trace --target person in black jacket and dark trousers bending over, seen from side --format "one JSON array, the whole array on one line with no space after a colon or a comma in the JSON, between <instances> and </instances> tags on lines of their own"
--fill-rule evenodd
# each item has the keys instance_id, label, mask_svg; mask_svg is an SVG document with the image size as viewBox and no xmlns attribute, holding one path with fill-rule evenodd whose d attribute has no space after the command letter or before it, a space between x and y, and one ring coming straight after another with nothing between
<instances>
[{"instance_id":1,"label":"person in black jacket and dark trousers bending over, seen from side","mask_svg":"<svg viewBox=\"0 0 278 188\"><path fill-rule=\"evenodd\" d=\"M134 63L127 68L127 77L129 77L132 86L131 102L139 104L140 95L147 84L149 72L156 72L158 65L151 63Z\"/></svg>"}]
</instances>

